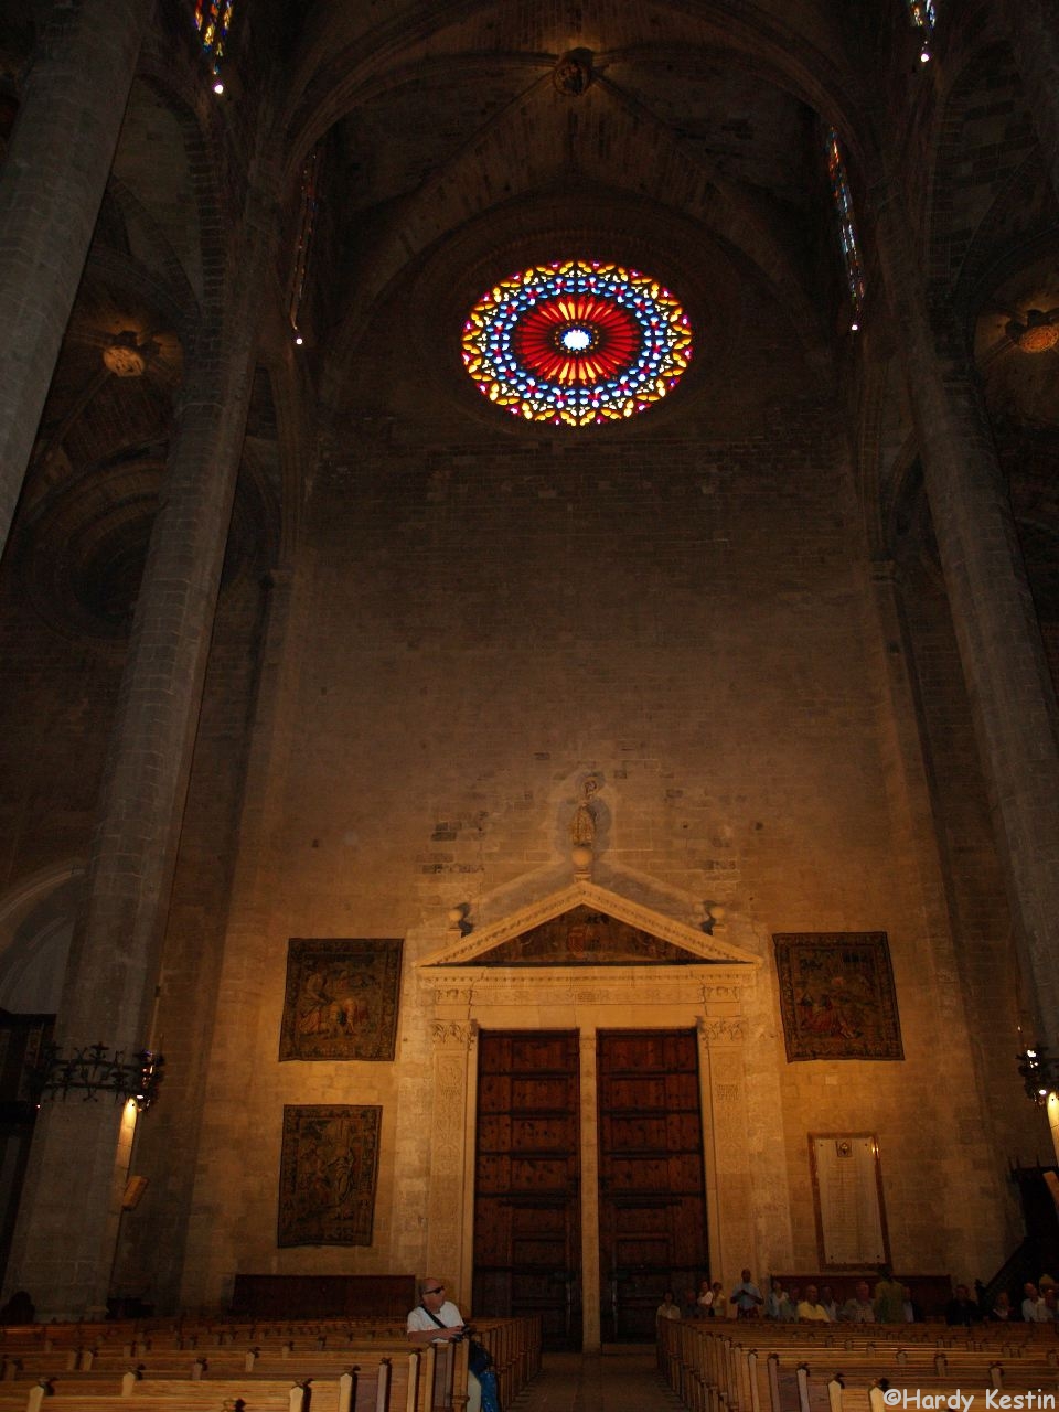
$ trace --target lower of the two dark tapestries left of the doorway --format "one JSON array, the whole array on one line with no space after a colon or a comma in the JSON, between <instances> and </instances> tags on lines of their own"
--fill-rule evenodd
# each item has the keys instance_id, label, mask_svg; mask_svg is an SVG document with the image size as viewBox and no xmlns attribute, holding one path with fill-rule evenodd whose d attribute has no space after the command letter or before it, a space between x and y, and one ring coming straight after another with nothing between
<instances>
[{"instance_id":1,"label":"lower of the two dark tapestries left of the doorway","mask_svg":"<svg viewBox=\"0 0 1059 1412\"><path fill-rule=\"evenodd\" d=\"M370 1245L383 1110L284 1106L280 1245Z\"/></svg>"}]
</instances>

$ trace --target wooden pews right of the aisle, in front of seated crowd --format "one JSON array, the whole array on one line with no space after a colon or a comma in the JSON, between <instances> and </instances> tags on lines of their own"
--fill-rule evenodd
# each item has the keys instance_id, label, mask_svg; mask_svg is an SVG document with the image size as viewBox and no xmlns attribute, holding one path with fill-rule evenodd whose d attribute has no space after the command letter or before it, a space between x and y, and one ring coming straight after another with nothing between
<instances>
[{"instance_id":1,"label":"wooden pews right of the aisle, in front of seated crowd","mask_svg":"<svg viewBox=\"0 0 1059 1412\"><path fill-rule=\"evenodd\" d=\"M689 1412L1059 1412L1056 1324L664 1319L658 1361Z\"/></svg>"}]
</instances>

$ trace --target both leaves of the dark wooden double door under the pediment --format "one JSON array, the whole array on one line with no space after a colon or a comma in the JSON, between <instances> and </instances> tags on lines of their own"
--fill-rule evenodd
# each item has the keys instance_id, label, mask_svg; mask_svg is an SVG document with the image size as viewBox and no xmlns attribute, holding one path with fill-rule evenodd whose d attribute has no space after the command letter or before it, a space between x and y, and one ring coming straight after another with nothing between
<instances>
[{"instance_id":1,"label":"both leaves of the dark wooden double door under the pediment","mask_svg":"<svg viewBox=\"0 0 1059 1412\"><path fill-rule=\"evenodd\" d=\"M474 1169L476 1310L539 1313L545 1347L580 1348L583 1298L604 1343L654 1341L665 1289L678 1300L707 1265L698 1039L693 1031L600 1031L597 1111L580 1103L576 1031L479 1036ZM599 1189L583 1200L585 1120ZM582 1213L599 1241L599 1289L582 1288Z\"/></svg>"}]
</instances>

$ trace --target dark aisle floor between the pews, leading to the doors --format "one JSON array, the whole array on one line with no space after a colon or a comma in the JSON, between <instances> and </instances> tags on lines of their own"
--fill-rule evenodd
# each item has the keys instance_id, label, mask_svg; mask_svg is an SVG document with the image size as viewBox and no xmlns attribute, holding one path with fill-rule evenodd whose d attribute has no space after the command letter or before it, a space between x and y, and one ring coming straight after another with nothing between
<instances>
[{"instance_id":1,"label":"dark aisle floor between the pews, leading to the doors","mask_svg":"<svg viewBox=\"0 0 1059 1412\"><path fill-rule=\"evenodd\" d=\"M541 1372L504 1412L679 1412L655 1348L545 1353Z\"/></svg>"}]
</instances>

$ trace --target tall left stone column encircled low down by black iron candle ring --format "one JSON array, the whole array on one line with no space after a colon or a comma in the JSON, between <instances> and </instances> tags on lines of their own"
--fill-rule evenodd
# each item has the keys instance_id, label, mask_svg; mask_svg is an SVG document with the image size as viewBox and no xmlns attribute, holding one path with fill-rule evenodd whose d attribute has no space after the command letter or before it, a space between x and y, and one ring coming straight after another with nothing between
<instances>
[{"instance_id":1,"label":"tall left stone column encircled low down by black iron candle ring","mask_svg":"<svg viewBox=\"0 0 1059 1412\"><path fill-rule=\"evenodd\" d=\"M234 498L268 237L247 229L229 313L189 359L151 532L56 1039L150 1046L160 952ZM121 1110L45 1101L8 1264L40 1317L99 1319L120 1207ZM150 1115L141 1121L150 1121ZM71 1200L71 1173L78 1173Z\"/></svg>"}]
</instances>

